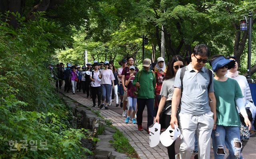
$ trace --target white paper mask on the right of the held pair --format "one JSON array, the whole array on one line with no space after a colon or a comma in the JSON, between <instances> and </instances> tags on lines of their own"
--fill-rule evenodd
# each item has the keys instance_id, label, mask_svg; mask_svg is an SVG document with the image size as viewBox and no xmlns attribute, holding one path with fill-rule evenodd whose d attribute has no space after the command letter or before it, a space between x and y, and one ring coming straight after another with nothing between
<instances>
[{"instance_id":1,"label":"white paper mask on the right of the held pair","mask_svg":"<svg viewBox=\"0 0 256 159\"><path fill-rule=\"evenodd\" d=\"M165 146L168 147L172 145L172 143L180 137L180 129L174 124L174 129L169 126L163 133L160 135L160 141Z\"/></svg>"}]
</instances>

